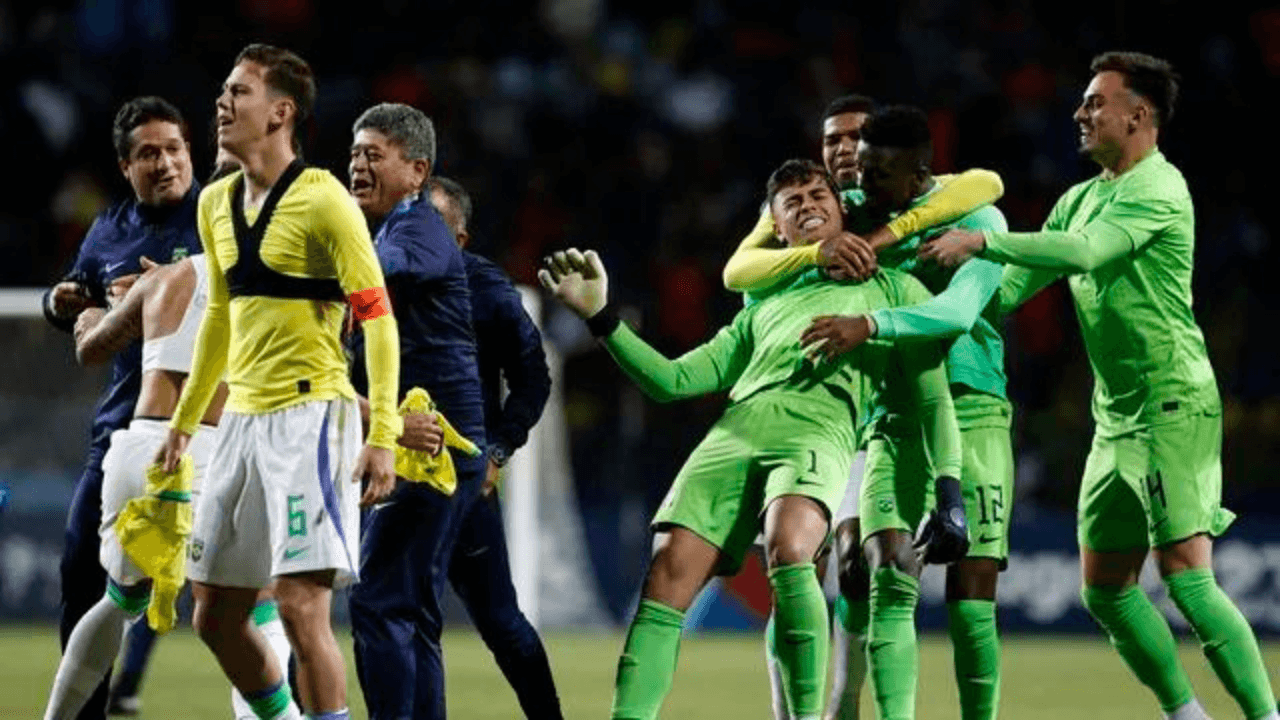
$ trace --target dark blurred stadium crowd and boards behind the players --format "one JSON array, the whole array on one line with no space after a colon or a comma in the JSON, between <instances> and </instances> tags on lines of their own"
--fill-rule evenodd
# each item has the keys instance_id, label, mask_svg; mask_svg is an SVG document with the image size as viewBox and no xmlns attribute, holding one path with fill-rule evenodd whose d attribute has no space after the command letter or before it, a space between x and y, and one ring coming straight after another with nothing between
<instances>
[{"instance_id":1,"label":"dark blurred stadium crowd and boards behind the players","mask_svg":"<svg viewBox=\"0 0 1280 720\"><path fill-rule=\"evenodd\" d=\"M196 176L206 176L214 97L251 41L296 50L317 74L308 161L346 181L361 110L421 108L439 133L436 172L476 201L479 252L531 284L545 252L598 249L617 299L669 354L741 306L721 268L754 223L772 168L818 156L832 97L925 108L936 170L1000 172L1011 228L1034 229L1096 172L1076 156L1070 122L1089 59L1112 49L1170 59L1185 86L1161 146L1197 204L1196 311L1226 406L1226 505L1242 514L1219 546L1219 571L1260 632L1280 632L1280 283L1277 220L1266 210L1280 152L1265 110L1280 91L1280 8L0 1L0 286L55 282L93 217L125 196L110 146L124 100L174 101L192 126ZM12 489L0 515L0 619L51 619L65 505L104 377L77 368L70 340L15 302L0 318L0 480ZM543 306L557 384L534 464L540 523L517 539L538 548L544 626L616 626L635 603L648 518L724 398L649 402L576 318ZM1007 331L1018 480L1002 618L1010 628L1092 629L1074 547L1092 378L1065 286ZM694 624L758 626L767 587L751 573L708 593ZM924 596L925 621L937 624L940 577Z\"/></svg>"}]
</instances>

